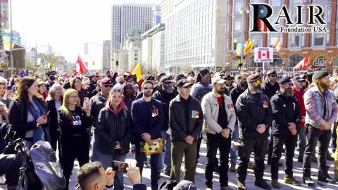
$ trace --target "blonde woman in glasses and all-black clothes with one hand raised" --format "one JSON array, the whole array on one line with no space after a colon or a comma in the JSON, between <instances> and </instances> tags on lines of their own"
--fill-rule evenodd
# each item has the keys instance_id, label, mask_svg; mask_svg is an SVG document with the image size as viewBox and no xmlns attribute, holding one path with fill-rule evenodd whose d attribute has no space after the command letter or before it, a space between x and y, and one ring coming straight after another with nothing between
<instances>
[{"instance_id":1,"label":"blonde woman in glasses and all-black clothes with one hand raised","mask_svg":"<svg viewBox=\"0 0 338 190\"><path fill-rule=\"evenodd\" d=\"M89 162L88 129L92 125L90 106L81 108L77 90L68 89L63 96L58 115L58 126L61 129L61 165L68 189L75 158L79 161L80 167Z\"/></svg>"}]
</instances>

